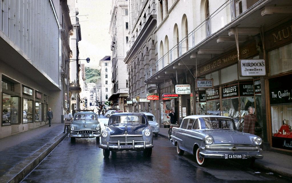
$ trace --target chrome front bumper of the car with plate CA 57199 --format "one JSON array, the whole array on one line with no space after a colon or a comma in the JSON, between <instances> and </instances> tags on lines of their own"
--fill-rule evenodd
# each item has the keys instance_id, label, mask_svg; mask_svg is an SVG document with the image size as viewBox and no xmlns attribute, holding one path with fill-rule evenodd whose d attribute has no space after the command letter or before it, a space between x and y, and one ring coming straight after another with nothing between
<instances>
[{"instance_id":1,"label":"chrome front bumper of the car with plate CA 57199","mask_svg":"<svg viewBox=\"0 0 292 183\"><path fill-rule=\"evenodd\" d=\"M263 155L260 153L214 153L214 152L200 152L200 156L203 158L218 158L218 159L234 159L234 158L229 158L229 155L241 155L241 159L250 159L250 158L255 158L255 159L263 159ZM237 158L238 159L238 158Z\"/></svg>"}]
</instances>

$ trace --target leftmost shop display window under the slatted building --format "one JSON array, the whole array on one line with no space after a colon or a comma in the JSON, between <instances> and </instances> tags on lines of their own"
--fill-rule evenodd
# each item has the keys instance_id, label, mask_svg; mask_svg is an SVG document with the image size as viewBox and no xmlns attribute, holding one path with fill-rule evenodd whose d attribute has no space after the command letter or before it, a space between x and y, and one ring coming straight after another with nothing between
<instances>
[{"instance_id":1,"label":"leftmost shop display window under the slatted building","mask_svg":"<svg viewBox=\"0 0 292 183\"><path fill-rule=\"evenodd\" d=\"M19 124L19 97L2 94L2 125Z\"/></svg>"}]
</instances>

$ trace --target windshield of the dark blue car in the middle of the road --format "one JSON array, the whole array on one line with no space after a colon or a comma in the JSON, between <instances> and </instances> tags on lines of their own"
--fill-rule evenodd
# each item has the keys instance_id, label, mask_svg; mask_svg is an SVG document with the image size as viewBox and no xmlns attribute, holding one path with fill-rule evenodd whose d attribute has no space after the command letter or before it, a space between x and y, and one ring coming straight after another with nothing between
<instances>
[{"instance_id":1,"label":"windshield of the dark blue car in the middle of the road","mask_svg":"<svg viewBox=\"0 0 292 183\"><path fill-rule=\"evenodd\" d=\"M134 115L115 116L109 119L109 125L115 125L115 124L121 124L121 123L146 124L146 121L145 121L145 118L143 118L142 116L134 116Z\"/></svg>"}]
</instances>

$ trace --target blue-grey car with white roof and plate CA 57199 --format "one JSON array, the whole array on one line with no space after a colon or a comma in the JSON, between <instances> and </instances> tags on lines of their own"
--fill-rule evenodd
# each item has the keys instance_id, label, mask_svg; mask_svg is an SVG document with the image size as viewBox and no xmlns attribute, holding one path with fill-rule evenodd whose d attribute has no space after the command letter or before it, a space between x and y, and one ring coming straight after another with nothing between
<instances>
[{"instance_id":1,"label":"blue-grey car with white roof and plate CA 57199","mask_svg":"<svg viewBox=\"0 0 292 183\"><path fill-rule=\"evenodd\" d=\"M178 155L185 151L196 156L197 163L205 166L209 158L262 159L256 135L239 132L234 120L218 115L191 115L183 118L180 127L173 127L171 142Z\"/></svg>"}]
</instances>

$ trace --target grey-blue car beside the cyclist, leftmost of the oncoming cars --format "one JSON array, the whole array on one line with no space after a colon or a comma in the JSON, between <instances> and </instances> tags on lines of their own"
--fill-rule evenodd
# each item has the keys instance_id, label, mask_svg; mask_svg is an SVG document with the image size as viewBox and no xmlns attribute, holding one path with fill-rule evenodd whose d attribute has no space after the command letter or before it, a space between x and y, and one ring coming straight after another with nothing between
<instances>
[{"instance_id":1,"label":"grey-blue car beside the cyclist, leftmost of the oncoming cars","mask_svg":"<svg viewBox=\"0 0 292 183\"><path fill-rule=\"evenodd\" d=\"M76 138L96 138L99 143L101 127L94 112L75 113L69 129L71 142L75 142Z\"/></svg>"}]
</instances>

